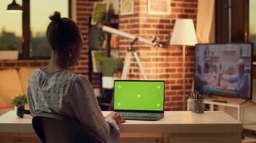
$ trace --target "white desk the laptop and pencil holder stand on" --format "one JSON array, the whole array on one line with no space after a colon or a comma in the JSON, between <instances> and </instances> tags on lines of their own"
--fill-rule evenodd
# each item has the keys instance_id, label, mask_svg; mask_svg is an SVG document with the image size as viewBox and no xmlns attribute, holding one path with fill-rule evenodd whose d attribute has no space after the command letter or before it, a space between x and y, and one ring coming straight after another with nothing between
<instances>
[{"instance_id":1,"label":"white desk the laptop and pencil holder stand on","mask_svg":"<svg viewBox=\"0 0 256 143\"><path fill-rule=\"evenodd\" d=\"M13 111L7 112L0 117L0 132L34 132L31 119L28 115L20 119ZM163 142L242 142L241 122L224 112L165 112L165 117L158 121L129 120L119 127L122 133L163 133Z\"/></svg>"}]
</instances>

